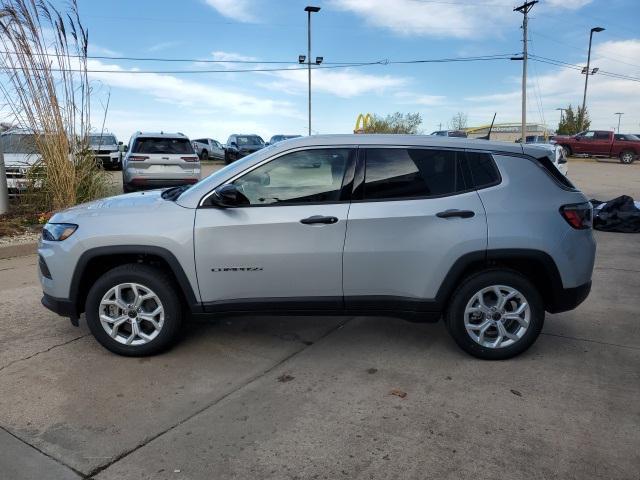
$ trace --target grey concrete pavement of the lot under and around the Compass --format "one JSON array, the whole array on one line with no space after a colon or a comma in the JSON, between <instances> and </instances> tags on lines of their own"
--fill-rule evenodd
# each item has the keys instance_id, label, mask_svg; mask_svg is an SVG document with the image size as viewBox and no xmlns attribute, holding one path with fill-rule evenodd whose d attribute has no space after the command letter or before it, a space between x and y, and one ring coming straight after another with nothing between
<instances>
[{"instance_id":1,"label":"grey concrete pavement of the lot under and around the Compass","mask_svg":"<svg viewBox=\"0 0 640 480\"><path fill-rule=\"evenodd\" d=\"M640 166L593 165L570 164L590 197L640 197ZM40 306L35 256L0 260L0 477L638 480L640 236L596 236L591 296L505 362L374 317L229 317L117 357Z\"/></svg>"}]
</instances>

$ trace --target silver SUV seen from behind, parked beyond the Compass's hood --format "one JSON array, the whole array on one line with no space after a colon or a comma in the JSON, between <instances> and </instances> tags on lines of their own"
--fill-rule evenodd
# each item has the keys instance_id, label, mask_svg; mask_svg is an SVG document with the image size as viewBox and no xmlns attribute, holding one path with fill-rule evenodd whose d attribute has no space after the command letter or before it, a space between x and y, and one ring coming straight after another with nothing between
<instances>
[{"instance_id":1,"label":"silver SUV seen from behind, parked beyond the Compass's hood","mask_svg":"<svg viewBox=\"0 0 640 480\"><path fill-rule=\"evenodd\" d=\"M200 180L200 159L182 133L136 132L122 161L125 193Z\"/></svg>"}]
</instances>

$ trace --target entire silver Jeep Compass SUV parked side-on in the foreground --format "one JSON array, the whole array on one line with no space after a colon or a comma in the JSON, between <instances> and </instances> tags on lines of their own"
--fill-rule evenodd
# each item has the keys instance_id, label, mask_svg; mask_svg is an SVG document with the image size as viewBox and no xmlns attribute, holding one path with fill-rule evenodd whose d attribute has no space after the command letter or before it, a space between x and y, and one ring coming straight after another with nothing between
<instances>
[{"instance_id":1,"label":"entire silver Jeep Compass SUV parked side-on in the foreground","mask_svg":"<svg viewBox=\"0 0 640 480\"><path fill-rule=\"evenodd\" d=\"M148 355L183 312L436 321L472 355L526 350L588 295L591 205L535 146L327 135L197 184L79 205L39 246L43 304Z\"/></svg>"}]
</instances>

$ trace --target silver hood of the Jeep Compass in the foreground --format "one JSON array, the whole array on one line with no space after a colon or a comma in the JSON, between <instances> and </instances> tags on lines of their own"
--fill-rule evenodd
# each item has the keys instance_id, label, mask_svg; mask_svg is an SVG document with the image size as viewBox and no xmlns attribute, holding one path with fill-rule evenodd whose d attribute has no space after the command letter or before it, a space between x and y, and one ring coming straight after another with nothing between
<instances>
[{"instance_id":1,"label":"silver hood of the Jeep Compass in the foreground","mask_svg":"<svg viewBox=\"0 0 640 480\"><path fill-rule=\"evenodd\" d=\"M165 207L167 204L175 205L174 202L163 199L161 194L162 190L149 190L81 203L56 213L51 217L51 222L73 223L73 219L78 217L122 215L138 212L147 215L153 213L154 210Z\"/></svg>"}]
</instances>

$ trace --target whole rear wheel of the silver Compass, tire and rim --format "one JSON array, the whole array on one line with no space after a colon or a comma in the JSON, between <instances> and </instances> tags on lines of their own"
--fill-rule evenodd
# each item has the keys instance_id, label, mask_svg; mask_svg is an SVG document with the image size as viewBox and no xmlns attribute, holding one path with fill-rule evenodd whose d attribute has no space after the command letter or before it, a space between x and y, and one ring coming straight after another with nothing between
<instances>
[{"instance_id":1,"label":"whole rear wheel of the silver Compass, tire and rim","mask_svg":"<svg viewBox=\"0 0 640 480\"><path fill-rule=\"evenodd\" d=\"M467 278L445 314L449 333L467 353L503 360L527 350L544 324L536 288L511 270L487 270Z\"/></svg>"}]
</instances>

